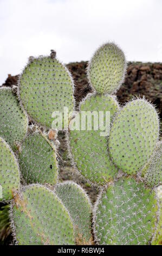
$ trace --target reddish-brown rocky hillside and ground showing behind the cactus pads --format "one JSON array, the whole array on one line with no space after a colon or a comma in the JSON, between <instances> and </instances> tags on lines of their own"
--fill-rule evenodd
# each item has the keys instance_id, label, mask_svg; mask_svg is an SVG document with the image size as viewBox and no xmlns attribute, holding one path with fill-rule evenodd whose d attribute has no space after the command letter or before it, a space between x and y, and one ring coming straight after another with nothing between
<instances>
[{"instance_id":1,"label":"reddish-brown rocky hillside and ground showing behind the cactus pads","mask_svg":"<svg viewBox=\"0 0 162 256\"><path fill-rule=\"evenodd\" d=\"M91 92L88 86L86 77L87 62L75 62L67 65L68 69L73 75L75 82L75 99L79 103L87 93ZM12 87L17 85L18 75L8 75L7 80L3 86ZM162 63L141 63L129 62L125 83L118 90L117 97L121 105L131 100L133 97L143 97L151 101L159 112L159 118L162 120ZM162 125L160 126L162 127ZM160 132L160 135L162 133ZM74 168L70 165L65 145L65 138L62 132L59 133L60 148L59 153L63 161L60 161L60 181L74 180L80 183L87 191L92 200L95 202L98 195L98 187L91 186L86 180L76 174ZM8 215L5 216L5 225L1 222L1 208L0 204L0 245L10 244L12 236L10 235ZM3 216L4 219L4 216Z\"/></svg>"}]
</instances>

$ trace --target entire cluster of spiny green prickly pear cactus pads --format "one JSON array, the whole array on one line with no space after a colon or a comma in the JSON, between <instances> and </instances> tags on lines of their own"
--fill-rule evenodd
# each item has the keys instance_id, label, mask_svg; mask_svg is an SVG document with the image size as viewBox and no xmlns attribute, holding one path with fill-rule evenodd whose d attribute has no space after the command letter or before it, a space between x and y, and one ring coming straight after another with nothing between
<instances>
[{"instance_id":1,"label":"entire cluster of spiny green prickly pear cactus pads","mask_svg":"<svg viewBox=\"0 0 162 256\"><path fill-rule=\"evenodd\" d=\"M72 164L100 190L94 206L80 185L59 182L53 112L63 117L64 107L73 112L76 105L72 76L56 53L29 58L16 88L18 97L9 88L0 89L0 200L10 205L5 216L10 208L16 244L161 244L158 114L145 99L119 106L114 94L125 72L122 50L113 43L101 46L87 69L93 93L68 119ZM83 123L82 113L87 115ZM102 113L103 127L100 118L95 119L96 113ZM102 128L105 135L101 135ZM2 223L0 220L0 227Z\"/></svg>"}]
</instances>

